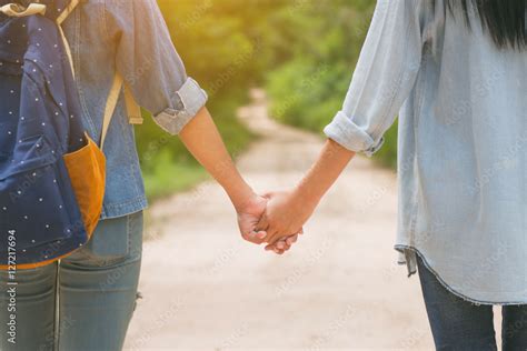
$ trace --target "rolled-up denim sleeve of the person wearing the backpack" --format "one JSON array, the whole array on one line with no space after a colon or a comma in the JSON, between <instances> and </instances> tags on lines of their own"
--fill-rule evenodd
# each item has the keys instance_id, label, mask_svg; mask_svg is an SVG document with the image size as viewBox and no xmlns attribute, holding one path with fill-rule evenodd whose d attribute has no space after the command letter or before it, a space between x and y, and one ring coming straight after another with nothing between
<instances>
[{"instance_id":1,"label":"rolled-up denim sleeve of the person wearing the backpack","mask_svg":"<svg viewBox=\"0 0 527 351\"><path fill-rule=\"evenodd\" d=\"M105 1L117 70L159 127L178 134L205 107L208 96L187 76L156 0Z\"/></svg>"}]
</instances>

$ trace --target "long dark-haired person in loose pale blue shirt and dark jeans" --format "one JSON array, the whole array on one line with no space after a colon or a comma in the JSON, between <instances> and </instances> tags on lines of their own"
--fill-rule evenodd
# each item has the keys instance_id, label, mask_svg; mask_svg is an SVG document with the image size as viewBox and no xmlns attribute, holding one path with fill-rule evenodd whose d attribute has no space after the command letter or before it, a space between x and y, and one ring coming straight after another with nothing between
<instances>
[{"instance_id":1,"label":"long dark-haired person in loose pale blue shirt and dark jeans","mask_svg":"<svg viewBox=\"0 0 527 351\"><path fill-rule=\"evenodd\" d=\"M437 349L496 350L501 304L504 350L525 350L525 0L379 0L319 160L292 191L270 194L266 240L298 232L399 111L395 248L419 272Z\"/></svg>"}]
</instances>

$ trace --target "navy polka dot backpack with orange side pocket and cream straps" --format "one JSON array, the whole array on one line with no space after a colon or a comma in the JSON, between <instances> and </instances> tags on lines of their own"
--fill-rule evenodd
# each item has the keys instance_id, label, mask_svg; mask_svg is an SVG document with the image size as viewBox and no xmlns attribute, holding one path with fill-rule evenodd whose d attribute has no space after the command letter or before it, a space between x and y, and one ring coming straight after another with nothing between
<instances>
[{"instance_id":1,"label":"navy polka dot backpack with orange side pocket and cream straps","mask_svg":"<svg viewBox=\"0 0 527 351\"><path fill-rule=\"evenodd\" d=\"M96 144L61 29L80 0L11 1L0 0L0 268L9 271L50 264L90 239L105 193L101 149L123 86L117 74Z\"/></svg>"}]
</instances>

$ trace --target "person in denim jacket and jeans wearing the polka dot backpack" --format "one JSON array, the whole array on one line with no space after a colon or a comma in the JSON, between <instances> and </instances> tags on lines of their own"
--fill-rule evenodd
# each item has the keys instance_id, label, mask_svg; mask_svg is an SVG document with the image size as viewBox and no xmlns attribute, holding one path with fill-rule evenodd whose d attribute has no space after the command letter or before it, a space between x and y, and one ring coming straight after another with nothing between
<instances>
[{"instance_id":1,"label":"person in denim jacket and jeans wearing the polka dot backpack","mask_svg":"<svg viewBox=\"0 0 527 351\"><path fill-rule=\"evenodd\" d=\"M0 6L10 2L0 0ZM18 1L31 2L60 11L69 0ZM0 14L0 29L9 20ZM100 139L103 107L118 71L139 104L152 112L162 129L179 134L225 188L243 238L260 243L266 233L253 229L266 200L236 170L205 107L207 94L186 74L156 0L82 1L63 29L72 51L83 124L91 138ZM9 52L4 44L2 49ZM34 46L32 50L40 50ZM121 350L136 307L147 207L125 106L120 99L103 148L106 198L91 240L59 262L19 270L16 297L9 292L7 272L0 273L1 350Z\"/></svg>"}]
</instances>

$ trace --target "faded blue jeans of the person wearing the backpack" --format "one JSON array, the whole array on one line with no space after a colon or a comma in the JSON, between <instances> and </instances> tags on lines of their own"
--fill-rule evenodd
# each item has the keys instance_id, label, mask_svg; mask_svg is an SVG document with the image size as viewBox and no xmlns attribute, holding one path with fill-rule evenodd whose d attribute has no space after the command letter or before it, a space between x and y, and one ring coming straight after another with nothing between
<instances>
[{"instance_id":1,"label":"faded blue jeans of the person wearing the backpack","mask_svg":"<svg viewBox=\"0 0 527 351\"><path fill-rule=\"evenodd\" d=\"M141 248L142 212L101 221L68 258L17 271L16 312L0 272L0 350L121 350L136 308ZM12 313L16 325L8 325Z\"/></svg>"}]
</instances>

